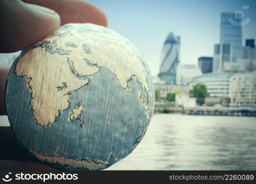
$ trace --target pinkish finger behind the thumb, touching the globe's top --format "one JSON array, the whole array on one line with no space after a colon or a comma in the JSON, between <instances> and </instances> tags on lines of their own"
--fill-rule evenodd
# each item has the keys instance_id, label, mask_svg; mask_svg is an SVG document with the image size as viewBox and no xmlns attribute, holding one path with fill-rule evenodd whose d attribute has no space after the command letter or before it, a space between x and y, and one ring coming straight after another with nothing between
<instances>
[{"instance_id":1,"label":"pinkish finger behind the thumb, touching the globe's top","mask_svg":"<svg viewBox=\"0 0 256 184\"><path fill-rule=\"evenodd\" d=\"M55 10L61 17L61 25L66 23L94 23L107 27L107 17L104 12L90 2L80 0L23 1Z\"/></svg>"}]
</instances>

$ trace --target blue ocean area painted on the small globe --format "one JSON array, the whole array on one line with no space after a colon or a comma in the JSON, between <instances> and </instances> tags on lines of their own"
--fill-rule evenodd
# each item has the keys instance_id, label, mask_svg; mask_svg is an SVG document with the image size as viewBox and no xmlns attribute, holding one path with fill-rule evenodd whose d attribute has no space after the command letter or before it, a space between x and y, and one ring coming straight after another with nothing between
<instances>
[{"instance_id":1,"label":"blue ocean area painted on the small globe","mask_svg":"<svg viewBox=\"0 0 256 184\"><path fill-rule=\"evenodd\" d=\"M7 79L6 109L9 121L21 145L31 153L45 156L41 159L45 163L61 169L104 169L125 158L141 141L153 114L155 98L147 66L144 67L145 72L149 72L145 79L149 83L146 93L150 104L149 117L138 99L138 94L145 94L138 78L131 77L127 82L131 93L126 94L115 74L106 67L99 67L97 74L87 77L87 85L70 92L68 108L60 110L50 125L41 126L33 114L28 82L25 76L15 72L17 63L18 59ZM65 85L63 82L61 88L65 88ZM83 112L69 122L70 111L80 104L84 107ZM65 158L67 162L81 161L81 164L71 166L69 162L60 163L49 160L47 156ZM82 166L82 161L98 166Z\"/></svg>"}]
</instances>

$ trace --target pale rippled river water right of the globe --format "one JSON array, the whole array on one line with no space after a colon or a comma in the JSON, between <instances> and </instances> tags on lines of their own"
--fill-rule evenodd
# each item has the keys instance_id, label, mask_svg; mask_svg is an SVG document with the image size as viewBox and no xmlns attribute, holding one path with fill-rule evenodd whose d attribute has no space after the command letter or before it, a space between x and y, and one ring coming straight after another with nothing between
<instances>
[{"instance_id":1,"label":"pale rippled river water right of the globe","mask_svg":"<svg viewBox=\"0 0 256 184\"><path fill-rule=\"evenodd\" d=\"M106 170L255 169L255 117L160 113L138 147Z\"/></svg>"}]
</instances>

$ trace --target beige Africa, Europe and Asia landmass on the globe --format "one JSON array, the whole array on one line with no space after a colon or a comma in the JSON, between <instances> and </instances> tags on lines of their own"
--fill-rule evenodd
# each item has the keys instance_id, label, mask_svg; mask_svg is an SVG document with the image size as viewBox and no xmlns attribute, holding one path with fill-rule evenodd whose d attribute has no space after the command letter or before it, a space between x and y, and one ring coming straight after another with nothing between
<instances>
[{"instance_id":1,"label":"beige Africa, Europe and Asia landmass on the globe","mask_svg":"<svg viewBox=\"0 0 256 184\"><path fill-rule=\"evenodd\" d=\"M90 77L98 74L101 67L112 72L125 94L131 93L128 81L132 77L137 78L143 91L138 98L140 101L144 99L145 115L150 118L150 100L145 95L149 86L145 80L142 56L128 40L114 31L96 25L87 26L62 26L23 52L18 59L15 74L26 79L37 123L41 126L54 123L60 111L69 108L72 91L87 85ZM91 31L91 26L94 31ZM70 47L69 42L76 47ZM63 83L66 85L58 88Z\"/></svg>"}]
</instances>

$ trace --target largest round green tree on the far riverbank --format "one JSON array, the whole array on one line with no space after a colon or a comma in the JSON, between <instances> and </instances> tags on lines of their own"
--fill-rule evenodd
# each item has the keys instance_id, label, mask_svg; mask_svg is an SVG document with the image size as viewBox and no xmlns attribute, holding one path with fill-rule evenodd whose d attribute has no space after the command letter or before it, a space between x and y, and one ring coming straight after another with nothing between
<instances>
[{"instance_id":1,"label":"largest round green tree on the far riverbank","mask_svg":"<svg viewBox=\"0 0 256 184\"><path fill-rule=\"evenodd\" d=\"M202 105L204 103L204 99L209 96L204 83L197 83L189 93L191 97L196 98L196 102L200 105Z\"/></svg>"}]
</instances>

